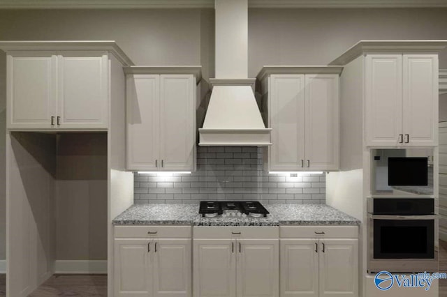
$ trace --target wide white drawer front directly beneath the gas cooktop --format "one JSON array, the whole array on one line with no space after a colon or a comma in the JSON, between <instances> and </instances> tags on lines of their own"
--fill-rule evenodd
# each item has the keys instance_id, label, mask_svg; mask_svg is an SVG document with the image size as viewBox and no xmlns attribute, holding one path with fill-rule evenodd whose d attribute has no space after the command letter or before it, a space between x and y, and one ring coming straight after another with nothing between
<instances>
[{"instance_id":1,"label":"wide white drawer front directly beneath the gas cooktop","mask_svg":"<svg viewBox=\"0 0 447 297\"><path fill-rule=\"evenodd\" d=\"M194 227L194 238L278 238L279 227Z\"/></svg>"}]
</instances>

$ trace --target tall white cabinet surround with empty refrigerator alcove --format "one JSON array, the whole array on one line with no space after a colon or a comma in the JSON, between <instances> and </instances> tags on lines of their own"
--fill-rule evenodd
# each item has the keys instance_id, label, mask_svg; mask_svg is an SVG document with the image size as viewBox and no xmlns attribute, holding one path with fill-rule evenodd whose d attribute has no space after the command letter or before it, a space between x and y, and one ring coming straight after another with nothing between
<instances>
[{"instance_id":1,"label":"tall white cabinet surround with empty refrigerator alcove","mask_svg":"<svg viewBox=\"0 0 447 297\"><path fill-rule=\"evenodd\" d=\"M59 201L70 205L70 198L79 197L74 200L80 205L90 194L98 197L103 203L96 218L103 224L95 228L101 230L96 237L111 243L111 219L133 203L133 174L124 163L123 72L133 63L113 41L2 41L0 49L7 69L6 296L29 296L54 273L73 271L108 273L111 286L105 252L111 246L101 241L98 261L82 254L88 248L82 244L74 247L82 254L77 259L58 258L57 243L70 245L76 236L91 234L89 222L82 222L70 226L76 231L66 238L58 226L70 225L71 218L56 218ZM68 138L73 151L59 154L59 140ZM94 149L82 139L92 139ZM97 155L94 172L94 165L85 165L91 155ZM59 179L60 173L70 178ZM82 220L85 213L76 215Z\"/></svg>"}]
</instances>

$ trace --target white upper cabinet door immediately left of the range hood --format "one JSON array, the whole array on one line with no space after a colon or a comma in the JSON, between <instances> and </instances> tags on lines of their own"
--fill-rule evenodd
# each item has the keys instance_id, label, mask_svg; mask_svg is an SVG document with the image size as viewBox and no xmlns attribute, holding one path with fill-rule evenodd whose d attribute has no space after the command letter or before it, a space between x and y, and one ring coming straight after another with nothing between
<instances>
[{"instance_id":1,"label":"white upper cabinet door immediately left of the range hood","mask_svg":"<svg viewBox=\"0 0 447 297\"><path fill-rule=\"evenodd\" d=\"M193 171L196 84L193 75L160 76L161 170Z\"/></svg>"}]
</instances>

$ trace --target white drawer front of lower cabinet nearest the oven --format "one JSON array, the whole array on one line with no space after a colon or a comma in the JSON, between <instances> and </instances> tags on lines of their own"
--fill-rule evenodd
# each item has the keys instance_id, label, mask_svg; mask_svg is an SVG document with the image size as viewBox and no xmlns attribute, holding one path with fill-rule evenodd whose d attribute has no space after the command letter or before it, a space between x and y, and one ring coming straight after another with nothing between
<instances>
[{"instance_id":1,"label":"white drawer front of lower cabinet nearest the oven","mask_svg":"<svg viewBox=\"0 0 447 297\"><path fill-rule=\"evenodd\" d=\"M357 226L281 226L281 238L358 238Z\"/></svg>"}]
</instances>

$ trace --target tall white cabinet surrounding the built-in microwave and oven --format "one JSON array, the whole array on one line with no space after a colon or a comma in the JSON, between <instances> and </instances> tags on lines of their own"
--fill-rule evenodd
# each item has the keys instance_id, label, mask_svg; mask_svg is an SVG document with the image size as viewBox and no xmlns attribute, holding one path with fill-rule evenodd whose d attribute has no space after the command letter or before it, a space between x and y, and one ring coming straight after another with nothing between
<instances>
[{"instance_id":1,"label":"tall white cabinet surrounding the built-in microwave and oven","mask_svg":"<svg viewBox=\"0 0 447 297\"><path fill-rule=\"evenodd\" d=\"M418 197L411 189L376 192L373 170L376 149L418 146L432 151L434 178L430 197L435 201L439 197L438 53L446 46L446 40L362 40L330 63L344 66L340 77L342 162L339 172L326 176L326 203L363 218L360 259L369 259L374 244L374 230L367 219L367 206L372 199L390 195L405 199ZM435 209L438 211L445 208L439 206L439 210ZM438 223L434 221L435 230ZM434 236L437 252L438 234ZM377 296L375 274L368 273L367 266L367 261L360 261L363 289L360 294ZM404 288L395 287L393 294L407 293ZM420 296L437 294L437 289L432 287Z\"/></svg>"}]
</instances>

